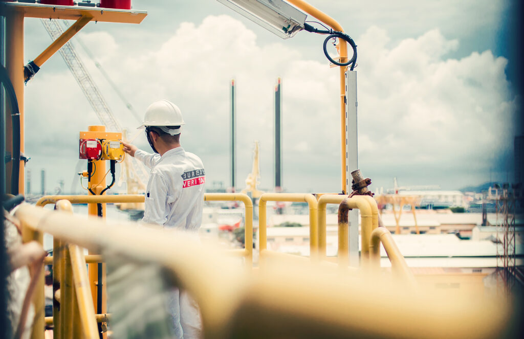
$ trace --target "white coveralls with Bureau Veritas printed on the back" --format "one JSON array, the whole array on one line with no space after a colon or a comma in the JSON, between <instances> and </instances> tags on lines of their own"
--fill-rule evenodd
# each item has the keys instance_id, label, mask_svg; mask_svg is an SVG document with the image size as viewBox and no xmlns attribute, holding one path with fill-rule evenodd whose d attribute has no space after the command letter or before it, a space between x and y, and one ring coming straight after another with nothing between
<instances>
[{"instance_id":1,"label":"white coveralls with Bureau Veritas printed on the back","mask_svg":"<svg viewBox=\"0 0 524 339\"><path fill-rule=\"evenodd\" d=\"M160 156L143 150L135 158L151 168L147 182L143 221L198 232L204 205L204 165L182 147ZM199 338L202 324L196 302L178 289L169 294L168 311L179 338Z\"/></svg>"}]
</instances>

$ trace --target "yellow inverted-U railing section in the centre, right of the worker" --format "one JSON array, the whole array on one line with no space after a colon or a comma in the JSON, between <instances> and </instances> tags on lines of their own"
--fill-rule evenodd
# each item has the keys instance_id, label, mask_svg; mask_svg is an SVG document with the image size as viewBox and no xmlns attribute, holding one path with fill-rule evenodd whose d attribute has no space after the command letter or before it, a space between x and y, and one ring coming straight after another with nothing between
<instances>
[{"instance_id":1,"label":"yellow inverted-U railing section in the centre, right of the worker","mask_svg":"<svg viewBox=\"0 0 524 339\"><path fill-rule=\"evenodd\" d=\"M318 247L318 201L309 193L264 193L258 201L258 239L260 252L267 249L267 201L307 202L309 206L309 250L316 256Z\"/></svg>"}]
</instances>

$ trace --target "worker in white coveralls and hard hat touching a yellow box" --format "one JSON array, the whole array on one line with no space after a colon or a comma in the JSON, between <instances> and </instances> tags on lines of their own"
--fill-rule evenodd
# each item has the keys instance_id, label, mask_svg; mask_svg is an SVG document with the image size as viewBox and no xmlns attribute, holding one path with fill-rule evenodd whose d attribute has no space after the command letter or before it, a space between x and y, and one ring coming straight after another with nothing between
<instances>
[{"instance_id":1,"label":"worker in white coveralls and hard hat touching a yellow box","mask_svg":"<svg viewBox=\"0 0 524 339\"><path fill-rule=\"evenodd\" d=\"M150 154L122 142L124 151L151 169L143 221L197 232L202 222L205 172L202 160L180 146L184 121L180 109L167 100L152 103L144 123ZM198 305L184 291L170 294L169 312L179 338L199 338L202 325Z\"/></svg>"}]
</instances>

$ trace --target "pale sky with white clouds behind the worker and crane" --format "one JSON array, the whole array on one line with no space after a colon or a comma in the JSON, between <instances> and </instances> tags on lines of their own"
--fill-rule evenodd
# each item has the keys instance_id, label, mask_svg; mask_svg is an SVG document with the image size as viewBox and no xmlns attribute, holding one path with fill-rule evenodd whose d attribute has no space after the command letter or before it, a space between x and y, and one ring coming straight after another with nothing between
<instances>
[{"instance_id":1,"label":"pale sky with white clouds behind the worker and crane","mask_svg":"<svg viewBox=\"0 0 524 339\"><path fill-rule=\"evenodd\" d=\"M358 164L373 190L439 185L460 189L513 178L513 139L520 98L515 90L509 0L396 2L311 0L358 45ZM183 147L204 161L208 187L228 184L229 83L237 82L238 180L251 171L260 141L260 186L274 185L273 101L283 87L283 186L290 192L339 192L339 73L322 51L323 37L300 32L282 40L215 0L135 0L140 25L90 23L73 43L115 117L138 120L102 73L142 115L158 99L184 115ZM308 17L309 20L315 20ZM26 19L25 59L50 38ZM78 133L100 124L59 53L25 92L27 168L32 191L81 191ZM149 149L144 136L136 144ZM83 164L85 165L85 164ZM83 166L82 165L82 166Z\"/></svg>"}]
</instances>

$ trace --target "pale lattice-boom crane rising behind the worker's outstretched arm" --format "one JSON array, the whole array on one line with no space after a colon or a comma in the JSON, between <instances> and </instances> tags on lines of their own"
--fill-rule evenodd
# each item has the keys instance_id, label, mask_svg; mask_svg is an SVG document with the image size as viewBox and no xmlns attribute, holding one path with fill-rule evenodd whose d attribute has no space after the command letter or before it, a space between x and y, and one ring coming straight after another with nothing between
<instances>
[{"instance_id":1,"label":"pale lattice-boom crane rising behind the worker's outstretched arm","mask_svg":"<svg viewBox=\"0 0 524 339\"><path fill-rule=\"evenodd\" d=\"M60 26L58 20L40 20L42 21L42 24L46 28L51 39L57 39L63 33L63 29ZM65 43L65 45L62 46L62 48L60 48L60 54L62 55L62 58L64 59L65 63L68 65L68 68L73 74L74 79L80 85L80 88L82 89L82 92L91 104L91 107L93 107L93 110L97 117L100 119L100 122L106 126L108 132L123 132L123 136L125 136L125 130L123 131L122 126L114 117L109 106L104 100L102 93L94 83L93 79L91 78L91 75L84 67L82 60L80 60L72 43ZM100 64L97 64L97 67L100 69ZM113 88L115 88L114 84L112 84L112 86ZM117 93L123 99L122 93L120 93L119 91L117 91ZM129 104L126 104L126 106L127 108L129 108L129 110L132 111L132 107ZM139 192L144 192L145 180L143 180L143 178L147 178L147 170L143 166L141 166L141 164L137 161L133 162L129 157L125 158L125 161L122 165L123 168L121 171L119 184L121 184L124 181L127 183L128 194L137 194ZM140 206L123 206L123 209L137 208L140 209Z\"/></svg>"}]
</instances>

